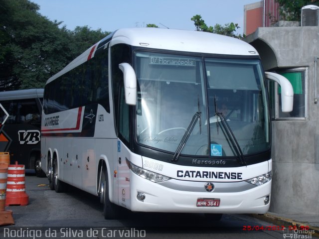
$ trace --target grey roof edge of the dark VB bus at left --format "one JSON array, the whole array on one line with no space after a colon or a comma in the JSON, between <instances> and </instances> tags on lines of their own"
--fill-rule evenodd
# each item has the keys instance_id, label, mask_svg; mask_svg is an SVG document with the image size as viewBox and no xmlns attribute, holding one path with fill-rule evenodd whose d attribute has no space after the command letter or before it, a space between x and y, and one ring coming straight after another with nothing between
<instances>
[{"instance_id":1,"label":"grey roof edge of the dark VB bus at left","mask_svg":"<svg viewBox=\"0 0 319 239\"><path fill-rule=\"evenodd\" d=\"M0 101L43 98L44 89L27 89L0 92Z\"/></svg>"}]
</instances>

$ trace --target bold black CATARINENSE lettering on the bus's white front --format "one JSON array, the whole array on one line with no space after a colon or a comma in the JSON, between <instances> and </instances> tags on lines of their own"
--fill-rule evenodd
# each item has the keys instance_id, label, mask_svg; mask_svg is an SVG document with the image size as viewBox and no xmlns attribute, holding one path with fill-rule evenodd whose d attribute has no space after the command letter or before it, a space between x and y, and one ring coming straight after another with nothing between
<instances>
[{"instance_id":1,"label":"bold black CATARINENSE lettering on the bus's white front","mask_svg":"<svg viewBox=\"0 0 319 239\"><path fill-rule=\"evenodd\" d=\"M243 179L243 173L177 170L178 178Z\"/></svg>"}]
</instances>

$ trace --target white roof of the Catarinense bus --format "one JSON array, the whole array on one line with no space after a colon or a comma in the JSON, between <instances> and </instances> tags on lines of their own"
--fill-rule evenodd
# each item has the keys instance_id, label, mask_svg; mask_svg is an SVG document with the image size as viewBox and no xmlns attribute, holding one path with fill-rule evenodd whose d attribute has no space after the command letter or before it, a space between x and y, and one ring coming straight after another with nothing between
<instances>
[{"instance_id":1,"label":"white roof of the Catarinense bus","mask_svg":"<svg viewBox=\"0 0 319 239\"><path fill-rule=\"evenodd\" d=\"M94 53L97 49L104 47L110 41L111 46L124 43L132 46L172 51L217 55L258 56L258 52L253 46L234 37L202 31L155 27L123 28L116 30L91 46L70 62L62 71L51 77L47 83L91 59L94 57Z\"/></svg>"}]
</instances>

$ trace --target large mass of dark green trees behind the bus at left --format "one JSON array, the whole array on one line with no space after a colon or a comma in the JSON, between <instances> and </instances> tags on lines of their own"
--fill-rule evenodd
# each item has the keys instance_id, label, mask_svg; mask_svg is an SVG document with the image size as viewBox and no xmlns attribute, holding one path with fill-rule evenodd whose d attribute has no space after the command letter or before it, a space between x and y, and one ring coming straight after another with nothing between
<instances>
[{"instance_id":1,"label":"large mass of dark green trees behind the bus at left","mask_svg":"<svg viewBox=\"0 0 319 239\"><path fill-rule=\"evenodd\" d=\"M109 32L74 31L29 0L0 0L0 91L44 87L47 79Z\"/></svg>"}]
</instances>

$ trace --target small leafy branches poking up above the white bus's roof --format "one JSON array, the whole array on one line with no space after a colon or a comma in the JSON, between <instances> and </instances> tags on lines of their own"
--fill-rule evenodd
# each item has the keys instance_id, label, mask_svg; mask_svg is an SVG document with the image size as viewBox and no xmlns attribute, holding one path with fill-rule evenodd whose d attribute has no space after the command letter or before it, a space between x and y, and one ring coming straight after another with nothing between
<instances>
[{"instance_id":1,"label":"small leafy branches poking up above the white bus's roof","mask_svg":"<svg viewBox=\"0 0 319 239\"><path fill-rule=\"evenodd\" d=\"M194 21L194 25L196 28L196 31L205 31L205 32L211 32L226 36L231 36L235 38L242 39L243 36L241 34L236 34L236 29L239 28L238 24L236 23L226 23L224 26L220 24L215 24L215 26L207 26L205 21L201 18L201 15L194 15L192 18L190 18L192 21Z\"/></svg>"}]
</instances>

